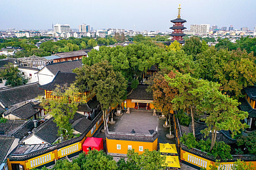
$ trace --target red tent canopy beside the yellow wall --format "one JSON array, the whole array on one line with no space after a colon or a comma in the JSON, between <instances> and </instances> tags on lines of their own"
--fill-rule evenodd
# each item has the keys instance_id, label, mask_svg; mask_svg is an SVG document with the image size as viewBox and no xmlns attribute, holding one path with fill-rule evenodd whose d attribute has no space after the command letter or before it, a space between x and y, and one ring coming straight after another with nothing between
<instances>
[{"instance_id":1,"label":"red tent canopy beside the yellow wall","mask_svg":"<svg viewBox=\"0 0 256 170\"><path fill-rule=\"evenodd\" d=\"M103 139L97 137L87 137L83 142L82 149L85 153L89 150L103 150Z\"/></svg>"}]
</instances>

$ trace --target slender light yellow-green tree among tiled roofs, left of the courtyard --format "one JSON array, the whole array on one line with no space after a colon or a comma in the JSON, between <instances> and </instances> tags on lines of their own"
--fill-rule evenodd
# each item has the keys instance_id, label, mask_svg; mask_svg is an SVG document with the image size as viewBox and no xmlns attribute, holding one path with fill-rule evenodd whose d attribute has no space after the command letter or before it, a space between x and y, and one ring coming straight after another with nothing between
<instances>
[{"instance_id":1,"label":"slender light yellow-green tree among tiled roofs, left of the courtyard","mask_svg":"<svg viewBox=\"0 0 256 170\"><path fill-rule=\"evenodd\" d=\"M78 101L71 100L80 98L80 102L85 101L85 97L79 93L79 89L75 85L63 85L55 88L52 92L53 98L44 99L39 97L40 105L45 109L45 113L49 113L59 128L59 136L63 140L73 137L72 125L69 122L74 118L78 109Z\"/></svg>"}]
</instances>

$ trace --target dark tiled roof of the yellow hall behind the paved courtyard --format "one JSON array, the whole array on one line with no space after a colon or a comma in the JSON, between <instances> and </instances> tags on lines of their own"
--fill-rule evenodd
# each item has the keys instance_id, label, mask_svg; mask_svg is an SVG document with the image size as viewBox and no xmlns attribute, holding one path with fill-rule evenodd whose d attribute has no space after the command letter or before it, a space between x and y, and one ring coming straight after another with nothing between
<instances>
[{"instance_id":1,"label":"dark tiled roof of the yellow hall behind the paved courtyard","mask_svg":"<svg viewBox=\"0 0 256 170\"><path fill-rule=\"evenodd\" d=\"M133 92L127 96L127 99L153 101L153 93L147 92L147 87L147 85L138 85L138 87L133 89Z\"/></svg>"}]
</instances>

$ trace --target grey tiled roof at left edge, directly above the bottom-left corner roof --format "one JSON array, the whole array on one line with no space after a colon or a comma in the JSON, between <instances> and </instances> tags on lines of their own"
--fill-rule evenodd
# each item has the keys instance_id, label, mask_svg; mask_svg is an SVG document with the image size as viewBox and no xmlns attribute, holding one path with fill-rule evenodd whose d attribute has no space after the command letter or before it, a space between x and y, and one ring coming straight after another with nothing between
<instances>
[{"instance_id":1,"label":"grey tiled roof at left edge, directly above the bottom-left corner roof","mask_svg":"<svg viewBox=\"0 0 256 170\"><path fill-rule=\"evenodd\" d=\"M23 138L32 128L31 120L7 120L5 123L0 123L0 135Z\"/></svg>"}]
</instances>

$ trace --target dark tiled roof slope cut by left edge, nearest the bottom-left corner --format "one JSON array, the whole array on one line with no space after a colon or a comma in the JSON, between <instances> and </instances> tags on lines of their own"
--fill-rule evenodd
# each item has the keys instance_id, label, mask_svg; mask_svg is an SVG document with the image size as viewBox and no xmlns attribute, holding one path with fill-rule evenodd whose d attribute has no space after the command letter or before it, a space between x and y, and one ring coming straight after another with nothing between
<instances>
[{"instance_id":1,"label":"dark tiled roof slope cut by left edge, nearest the bottom-left corner","mask_svg":"<svg viewBox=\"0 0 256 170\"><path fill-rule=\"evenodd\" d=\"M15 137L0 136L0 163L4 161Z\"/></svg>"}]
</instances>

